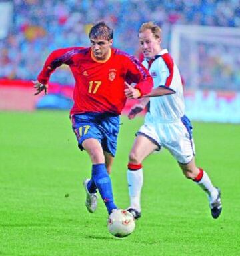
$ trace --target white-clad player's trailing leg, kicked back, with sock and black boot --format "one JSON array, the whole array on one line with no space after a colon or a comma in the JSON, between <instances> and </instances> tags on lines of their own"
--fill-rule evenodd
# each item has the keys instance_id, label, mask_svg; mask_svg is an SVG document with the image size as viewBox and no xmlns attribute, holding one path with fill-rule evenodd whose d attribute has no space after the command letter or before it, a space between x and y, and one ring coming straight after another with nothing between
<instances>
[{"instance_id":1,"label":"white-clad player's trailing leg, kicked back, with sock and black boot","mask_svg":"<svg viewBox=\"0 0 240 256\"><path fill-rule=\"evenodd\" d=\"M198 168L195 164L195 158L186 165L179 163L183 174L188 179L195 181L202 189L207 193L209 199L209 207L211 209L211 215L214 219L217 219L221 214L221 197L220 189L213 186L211 179L203 169Z\"/></svg>"}]
</instances>

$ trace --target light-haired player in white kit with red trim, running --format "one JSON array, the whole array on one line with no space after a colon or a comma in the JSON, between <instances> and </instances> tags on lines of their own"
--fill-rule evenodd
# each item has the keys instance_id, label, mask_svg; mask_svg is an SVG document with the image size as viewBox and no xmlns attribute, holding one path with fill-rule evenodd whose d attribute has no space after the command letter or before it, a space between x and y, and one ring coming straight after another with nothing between
<instances>
[{"instance_id":1,"label":"light-haired player in white kit with red trim, running","mask_svg":"<svg viewBox=\"0 0 240 256\"><path fill-rule=\"evenodd\" d=\"M185 115L183 85L179 69L167 49L161 49L161 29L153 22L143 23L139 29L139 43L145 59L143 65L153 77L154 90L169 89L171 95L143 98L129 113L133 119L147 105L149 111L145 122L137 132L133 148L129 153L127 180L129 184L130 207L135 219L141 217L140 195L143 186L142 161L162 147L168 149L179 163L187 179L192 179L207 193L213 218L221 213L220 190L213 186L203 169L195 164L195 149L192 125Z\"/></svg>"}]
</instances>

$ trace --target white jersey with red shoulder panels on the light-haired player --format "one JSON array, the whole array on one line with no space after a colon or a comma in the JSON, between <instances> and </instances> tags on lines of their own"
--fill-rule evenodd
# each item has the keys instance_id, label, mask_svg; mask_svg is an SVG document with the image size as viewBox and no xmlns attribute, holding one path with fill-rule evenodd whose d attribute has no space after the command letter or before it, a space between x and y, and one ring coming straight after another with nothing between
<instances>
[{"instance_id":1,"label":"white jersey with red shoulder panels on the light-haired player","mask_svg":"<svg viewBox=\"0 0 240 256\"><path fill-rule=\"evenodd\" d=\"M163 86L175 91L175 94L150 98L150 109L147 113L159 122L175 121L185 115L183 99L183 85L177 65L169 55L167 49L155 56L153 61L143 61L143 65L153 77L154 88ZM150 118L151 118L150 117Z\"/></svg>"}]
</instances>

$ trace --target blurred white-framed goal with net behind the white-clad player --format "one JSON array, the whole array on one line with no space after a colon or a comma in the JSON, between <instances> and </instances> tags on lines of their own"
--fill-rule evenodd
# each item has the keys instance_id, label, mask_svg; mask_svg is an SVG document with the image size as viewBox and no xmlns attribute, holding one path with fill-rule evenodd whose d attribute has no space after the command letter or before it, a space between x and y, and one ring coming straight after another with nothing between
<instances>
[{"instance_id":1,"label":"blurred white-framed goal with net behind the white-clad player","mask_svg":"<svg viewBox=\"0 0 240 256\"><path fill-rule=\"evenodd\" d=\"M175 25L170 49L183 77L189 115L240 123L240 29Z\"/></svg>"}]
</instances>

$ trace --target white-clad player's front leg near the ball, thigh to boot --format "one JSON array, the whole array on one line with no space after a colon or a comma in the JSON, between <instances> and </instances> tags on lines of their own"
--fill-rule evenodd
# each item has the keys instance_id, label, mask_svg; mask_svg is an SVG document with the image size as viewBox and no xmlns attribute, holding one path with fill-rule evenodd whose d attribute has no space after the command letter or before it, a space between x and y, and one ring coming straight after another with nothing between
<instances>
[{"instance_id":1,"label":"white-clad player's front leg near the ball, thigh to boot","mask_svg":"<svg viewBox=\"0 0 240 256\"><path fill-rule=\"evenodd\" d=\"M129 153L127 181L129 185L130 207L135 219L141 217L141 189L143 187L142 161L158 148L144 135L138 135Z\"/></svg>"}]
</instances>

